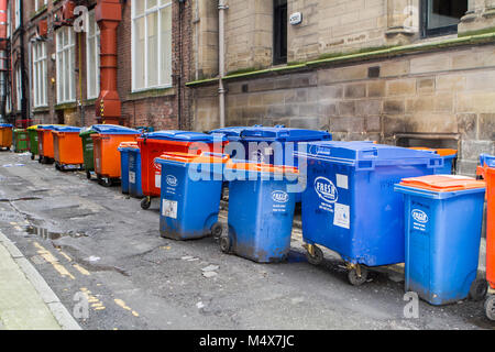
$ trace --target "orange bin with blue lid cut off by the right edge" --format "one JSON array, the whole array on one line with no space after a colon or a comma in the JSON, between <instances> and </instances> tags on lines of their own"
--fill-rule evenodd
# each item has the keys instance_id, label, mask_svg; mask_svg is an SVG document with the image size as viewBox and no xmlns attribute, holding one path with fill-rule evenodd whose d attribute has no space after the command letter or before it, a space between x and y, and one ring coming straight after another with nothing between
<instances>
[{"instance_id":1,"label":"orange bin with blue lid cut off by the right edge","mask_svg":"<svg viewBox=\"0 0 495 352\"><path fill-rule=\"evenodd\" d=\"M486 180L486 280L495 289L495 156L485 155L483 176ZM495 295L485 301L485 314L495 321Z\"/></svg>"}]
</instances>

